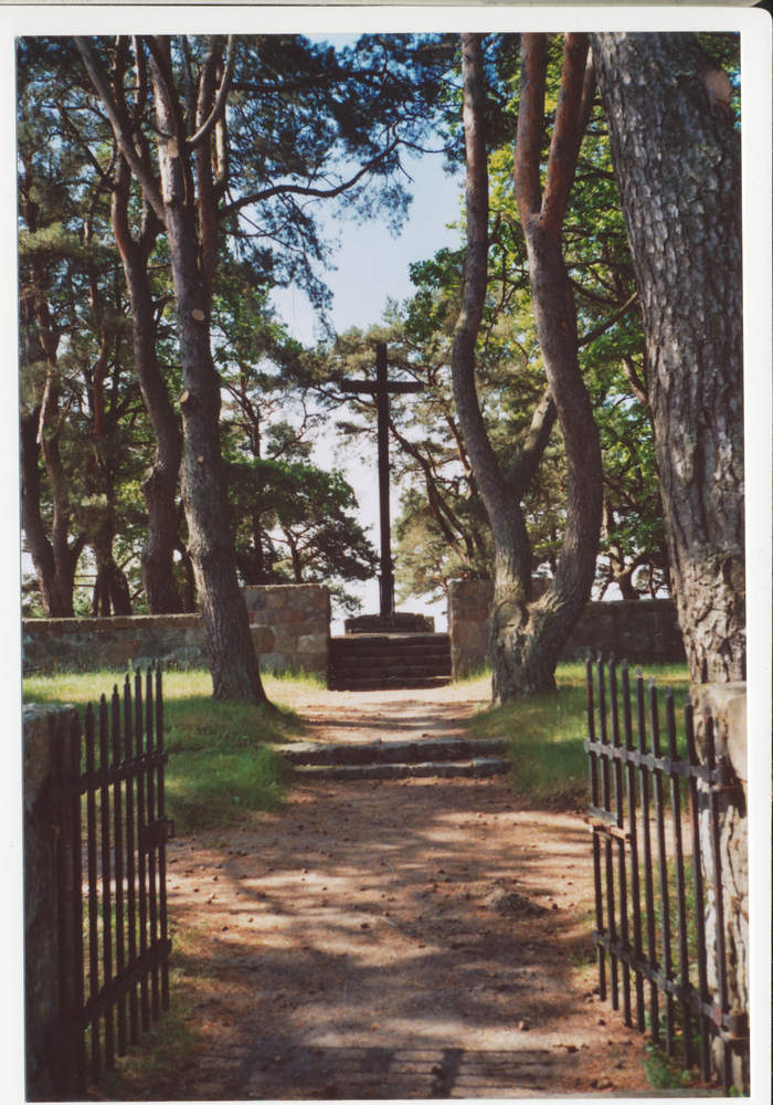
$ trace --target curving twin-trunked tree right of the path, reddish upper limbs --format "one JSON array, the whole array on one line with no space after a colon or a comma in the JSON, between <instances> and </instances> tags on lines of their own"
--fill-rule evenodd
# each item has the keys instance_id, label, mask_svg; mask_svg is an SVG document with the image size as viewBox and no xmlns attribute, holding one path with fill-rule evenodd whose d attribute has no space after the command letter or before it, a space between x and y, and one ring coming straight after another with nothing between
<instances>
[{"instance_id":1,"label":"curving twin-trunked tree right of the path, reddish upper limbs","mask_svg":"<svg viewBox=\"0 0 773 1105\"><path fill-rule=\"evenodd\" d=\"M590 597L599 550L603 498L599 431L580 371L576 309L561 249L564 212L593 101L594 84L592 70L586 73L586 56L587 36L568 34L542 189L547 40L542 34L522 39L515 188L550 393L534 414L518 463L505 475L486 434L475 390L475 345L487 291L486 92L480 40L463 35L467 257L452 372L465 444L494 537L495 703L554 687L555 664ZM532 602L531 554L520 503L557 417L568 469L564 541L549 589Z\"/></svg>"}]
</instances>

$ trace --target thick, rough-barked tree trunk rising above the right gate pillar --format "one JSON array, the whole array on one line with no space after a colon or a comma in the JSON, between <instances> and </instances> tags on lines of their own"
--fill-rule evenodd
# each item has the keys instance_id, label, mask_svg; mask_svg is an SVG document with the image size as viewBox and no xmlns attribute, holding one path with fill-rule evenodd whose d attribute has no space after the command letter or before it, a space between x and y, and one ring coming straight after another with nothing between
<instances>
[{"instance_id":1,"label":"thick, rough-barked tree trunk rising above the right gate pillar","mask_svg":"<svg viewBox=\"0 0 773 1105\"><path fill-rule=\"evenodd\" d=\"M595 34L692 682L745 677L741 150L693 34Z\"/></svg>"}]
</instances>

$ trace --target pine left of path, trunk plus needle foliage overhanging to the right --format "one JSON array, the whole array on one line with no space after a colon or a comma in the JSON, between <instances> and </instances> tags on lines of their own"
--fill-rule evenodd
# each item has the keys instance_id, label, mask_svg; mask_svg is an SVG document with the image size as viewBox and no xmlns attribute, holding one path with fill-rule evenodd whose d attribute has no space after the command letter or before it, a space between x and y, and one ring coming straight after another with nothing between
<instances>
[{"instance_id":1,"label":"pine left of path, trunk plus needle foliage overhanging to the right","mask_svg":"<svg viewBox=\"0 0 773 1105\"><path fill-rule=\"evenodd\" d=\"M441 71L436 52L430 50L425 64L402 40L373 38L354 51L345 51L343 67L329 49L311 51L314 72L294 72L288 77L283 67L287 57L307 63L310 56L304 40L295 36L266 36L257 44L233 35L227 41L222 35L180 36L174 43L168 35L138 36L135 53L147 51L150 56L155 108L152 124L146 113L138 131L137 119L127 118L112 87L103 61L105 43L76 41L118 150L166 231L182 366L181 494L214 694L260 702L264 694L229 528L219 441L220 379L211 348L221 227L242 243L279 241L301 259L309 251L321 257L305 203L348 197L360 211L370 213L373 198L364 187L373 177L382 185L378 197L384 213L399 219L405 203L405 193L395 183L399 147L415 143L426 129L427 107L437 96ZM115 64L127 50L126 40L119 38L108 50ZM274 54L280 65L271 73ZM443 50L441 67L442 55ZM258 74L256 63L263 63ZM332 91L326 93L320 109L315 98L325 90ZM304 92L310 101L304 99ZM298 99L303 109L294 114L288 108ZM282 157L277 150L285 144L277 144L278 134L293 143ZM337 158L356 158L359 168L342 179L332 164ZM266 179L266 169L272 173L277 164L280 168L274 179ZM256 211L258 220L262 215L260 227ZM272 269L272 252L265 245L240 256L258 270ZM297 267L307 286L324 298L309 266L299 262Z\"/></svg>"}]
</instances>

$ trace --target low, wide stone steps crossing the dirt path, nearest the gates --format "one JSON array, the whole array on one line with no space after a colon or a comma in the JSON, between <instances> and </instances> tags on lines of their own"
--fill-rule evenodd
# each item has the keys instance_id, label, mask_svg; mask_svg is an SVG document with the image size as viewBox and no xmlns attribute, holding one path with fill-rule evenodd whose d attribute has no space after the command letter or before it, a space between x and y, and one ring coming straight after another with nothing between
<instances>
[{"instance_id":1,"label":"low, wide stone steps crossing the dirt path, nearest the gates","mask_svg":"<svg viewBox=\"0 0 773 1105\"><path fill-rule=\"evenodd\" d=\"M505 775L512 764L506 740L422 738L367 744L296 741L275 745L301 779L343 782L360 779L484 779Z\"/></svg>"}]
</instances>

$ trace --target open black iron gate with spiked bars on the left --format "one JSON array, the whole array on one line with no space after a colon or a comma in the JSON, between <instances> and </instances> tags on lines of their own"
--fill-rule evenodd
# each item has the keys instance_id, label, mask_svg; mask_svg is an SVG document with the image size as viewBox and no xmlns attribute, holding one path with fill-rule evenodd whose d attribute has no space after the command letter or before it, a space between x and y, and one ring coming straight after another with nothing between
<instances>
[{"instance_id":1,"label":"open black iron gate with spiked bars on the left","mask_svg":"<svg viewBox=\"0 0 773 1105\"><path fill-rule=\"evenodd\" d=\"M145 673L145 696L142 682L138 671L134 696L127 675L123 695L114 686L109 703L103 695L96 712L89 703L83 734L75 718L70 762L60 749L53 810L67 1094L84 1094L88 1069L95 1080L112 1070L169 1008L160 666Z\"/></svg>"}]
</instances>

